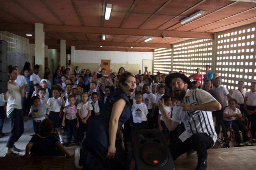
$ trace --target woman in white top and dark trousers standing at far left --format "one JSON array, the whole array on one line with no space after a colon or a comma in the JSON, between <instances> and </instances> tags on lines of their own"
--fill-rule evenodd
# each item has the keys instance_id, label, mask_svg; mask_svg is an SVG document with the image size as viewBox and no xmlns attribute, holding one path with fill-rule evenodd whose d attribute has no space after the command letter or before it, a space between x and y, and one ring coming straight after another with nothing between
<instances>
[{"instance_id":1,"label":"woman in white top and dark trousers standing at far left","mask_svg":"<svg viewBox=\"0 0 256 170\"><path fill-rule=\"evenodd\" d=\"M17 156L20 149L16 148L14 143L18 141L24 132L24 120L21 105L21 98L24 97L24 88L27 84L19 87L15 80L18 77L18 71L15 67L9 68L8 91L4 93L4 101L7 102L7 117L10 119L11 132L6 144L7 151L5 156ZM12 151L13 150L13 151Z\"/></svg>"}]
</instances>

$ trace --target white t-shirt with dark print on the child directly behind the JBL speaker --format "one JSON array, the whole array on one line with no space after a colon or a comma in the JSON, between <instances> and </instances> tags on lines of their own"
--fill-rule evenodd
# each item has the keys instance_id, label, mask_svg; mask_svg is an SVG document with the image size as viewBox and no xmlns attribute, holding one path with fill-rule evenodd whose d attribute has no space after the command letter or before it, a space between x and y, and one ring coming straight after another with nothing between
<instances>
[{"instance_id":1,"label":"white t-shirt with dark print on the child directly behind the JBL speaker","mask_svg":"<svg viewBox=\"0 0 256 170\"><path fill-rule=\"evenodd\" d=\"M132 105L132 117L134 123L141 123L147 121L147 106L145 103L137 104L133 103Z\"/></svg>"}]
</instances>

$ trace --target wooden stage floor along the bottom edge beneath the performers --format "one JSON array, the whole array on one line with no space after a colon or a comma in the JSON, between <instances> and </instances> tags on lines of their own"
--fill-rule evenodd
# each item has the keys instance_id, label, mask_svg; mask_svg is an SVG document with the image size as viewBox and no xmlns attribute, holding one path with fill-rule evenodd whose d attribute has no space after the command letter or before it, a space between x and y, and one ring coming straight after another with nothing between
<instances>
[{"instance_id":1,"label":"wooden stage floor along the bottom edge beneath the performers","mask_svg":"<svg viewBox=\"0 0 256 170\"><path fill-rule=\"evenodd\" d=\"M208 150L208 170L256 169L256 146ZM175 161L176 169L196 169L197 154L183 154ZM74 157L0 157L1 170L72 170Z\"/></svg>"}]
</instances>

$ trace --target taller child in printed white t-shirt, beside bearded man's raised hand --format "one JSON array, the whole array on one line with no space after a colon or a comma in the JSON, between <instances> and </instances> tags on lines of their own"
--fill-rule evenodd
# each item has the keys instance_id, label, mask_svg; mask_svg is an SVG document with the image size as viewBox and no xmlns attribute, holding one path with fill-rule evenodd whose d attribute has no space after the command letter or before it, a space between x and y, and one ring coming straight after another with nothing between
<instances>
[{"instance_id":1,"label":"taller child in printed white t-shirt, beside bearded man's raised hand","mask_svg":"<svg viewBox=\"0 0 256 170\"><path fill-rule=\"evenodd\" d=\"M149 128L153 129L154 124L157 125L157 114L155 113L155 106L156 106L156 96L150 92L150 86L148 84L144 84L143 91L145 92L143 94L143 101L147 106L149 118L148 118L148 124Z\"/></svg>"}]
</instances>

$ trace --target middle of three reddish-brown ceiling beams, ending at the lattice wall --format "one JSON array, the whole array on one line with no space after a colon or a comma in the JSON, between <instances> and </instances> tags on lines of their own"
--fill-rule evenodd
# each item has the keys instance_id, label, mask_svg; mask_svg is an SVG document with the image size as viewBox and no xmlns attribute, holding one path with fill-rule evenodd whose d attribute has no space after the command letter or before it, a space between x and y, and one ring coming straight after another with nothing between
<instances>
[{"instance_id":1,"label":"middle of three reddish-brown ceiling beams, ending at the lattice wall","mask_svg":"<svg viewBox=\"0 0 256 170\"><path fill-rule=\"evenodd\" d=\"M35 43L35 39L29 40L30 44ZM46 45L60 44L60 40L45 40ZM124 42L106 42L106 41L76 41L66 40L66 44L70 46L76 45L103 45L103 46L123 46L123 47L151 47L151 48L171 48L171 44L156 44L156 43L124 43Z\"/></svg>"}]
</instances>

